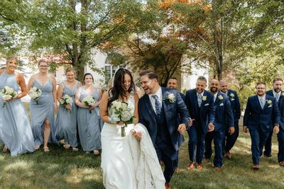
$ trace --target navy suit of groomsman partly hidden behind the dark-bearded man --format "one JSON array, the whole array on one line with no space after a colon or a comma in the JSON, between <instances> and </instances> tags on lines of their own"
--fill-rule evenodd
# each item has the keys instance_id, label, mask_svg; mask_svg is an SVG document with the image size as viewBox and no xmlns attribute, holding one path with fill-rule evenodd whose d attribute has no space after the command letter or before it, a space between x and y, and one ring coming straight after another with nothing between
<instances>
[{"instance_id":1,"label":"navy suit of groomsman partly hidden behind the dark-bearded man","mask_svg":"<svg viewBox=\"0 0 284 189\"><path fill-rule=\"evenodd\" d=\"M229 134L229 132L226 132L226 144L224 150L230 151L231 148L234 147L236 139L239 137L239 118L241 118L241 104L239 102L239 96L237 95L236 91L228 90L227 96L229 97L231 109L233 110L235 127L234 134Z\"/></svg>"}]
</instances>

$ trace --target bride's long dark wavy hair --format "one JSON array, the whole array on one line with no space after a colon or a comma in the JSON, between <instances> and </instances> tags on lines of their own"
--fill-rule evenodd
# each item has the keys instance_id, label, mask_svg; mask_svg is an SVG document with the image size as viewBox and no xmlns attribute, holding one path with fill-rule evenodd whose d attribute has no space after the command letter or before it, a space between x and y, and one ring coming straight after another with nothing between
<instances>
[{"instance_id":1,"label":"bride's long dark wavy hair","mask_svg":"<svg viewBox=\"0 0 284 189\"><path fill-rule=\"evenodd\" d=\"M124 76L125 74L129 74L131 78L131 84L130 87L127 91L124 90ZM120 68L116 71L116 74L114 74L114 84L113 86L109 89L109 103L107 106L111 105L113 101L116 101L119 99L119 96L121 97L126 97L127 98L127 93L131 93L131 91L135 90L135 84L133 81L133 77L131 72L128 69Z\"/></svg>"}]
</instances>

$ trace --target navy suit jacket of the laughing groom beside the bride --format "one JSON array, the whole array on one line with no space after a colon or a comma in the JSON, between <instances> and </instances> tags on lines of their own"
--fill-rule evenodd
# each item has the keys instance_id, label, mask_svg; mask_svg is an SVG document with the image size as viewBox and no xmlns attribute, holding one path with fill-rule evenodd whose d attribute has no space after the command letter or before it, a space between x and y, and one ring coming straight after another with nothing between
<instances>
[{"instance_id":1,"label":"navy suit jacket of the laughing groom beside the bride","mask_svg":"<svg viewBox=\"0 0 284 189\"><path fill-rule=\"evenodd\" d=\"M188 110L180 96L180 93L177 90L171 88L161 88L163 93L162 113L164 113L166 127L168 128L168 132L170 134L169 140L170 143L173 144L175 151L178 151L180 145L184 141L182 134L178 132L178 125L180 125L180 123L185 123L185 125L187 125L189 118ZM174 103L170 103L170 101L165 99L165 94L167 92L175 95ZM158 120L155 116L155 111L153 110L150 98L147 94L139 99L138 113L139 122L145 125L150 134L152 142L155 145L158 132Z\"/></svg>"}]
</instances>

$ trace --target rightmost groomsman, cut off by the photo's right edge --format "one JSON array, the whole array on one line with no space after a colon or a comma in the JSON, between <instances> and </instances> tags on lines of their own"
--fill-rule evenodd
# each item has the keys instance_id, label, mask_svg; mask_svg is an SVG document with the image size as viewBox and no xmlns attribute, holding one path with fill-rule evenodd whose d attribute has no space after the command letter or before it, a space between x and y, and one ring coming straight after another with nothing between
<instances>
[{"instance_id":1,"label":"rightmost groomsman, cut off by the photo's right edge","mask_svg":"<svg viewBox=\"0 0 284 189\"><path fill-rule=\"evenodd\" d=\"M278 109L280 113L280 127L277 134L278 139L278 162L280 166L284 166L284 92L281 90L283 85L283 80L280 78L273 79L273 90L267 91L266 94L274 96L278 102ZM266 151L263 152L264 155L271 155L271 134L266 140Z\"/></svg>"}]
</instances>

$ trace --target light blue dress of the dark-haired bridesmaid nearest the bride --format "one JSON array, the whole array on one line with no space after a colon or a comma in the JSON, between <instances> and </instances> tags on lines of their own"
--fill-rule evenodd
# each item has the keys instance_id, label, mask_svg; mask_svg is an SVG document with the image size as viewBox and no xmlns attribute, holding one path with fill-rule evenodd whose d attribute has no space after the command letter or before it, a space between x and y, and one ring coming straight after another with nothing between
<instances>
[{"instance_id":1,"label":"light blue dress of the dark-haired bridesmaid nearest the bride","mask_svg":"<svg viewBox=\"0 0 284 189\"><path fill-rule=\"evenodd\" d=\"M84 87L80 87L80 101L88 96ZM99 101L99 91L96 88L92 94L95 101ZM84 151L93 151L94 149L102 149L101 145L101 129L99 118L99 107L92 110L89 113L87 108L78 108L77 113L78 132L80 137L80 143Z\"/></svg>"}]
</instances>

